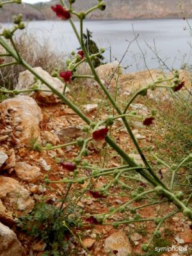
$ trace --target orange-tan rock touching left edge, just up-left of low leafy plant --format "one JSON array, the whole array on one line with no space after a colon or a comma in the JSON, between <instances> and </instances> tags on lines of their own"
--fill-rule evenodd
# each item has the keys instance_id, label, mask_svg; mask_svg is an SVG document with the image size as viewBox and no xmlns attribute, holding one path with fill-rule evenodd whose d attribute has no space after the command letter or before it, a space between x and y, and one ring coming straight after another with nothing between
<instances>
[{"instance_id":1,"label":"orange-tan rock touching left edge, just up-left of low leafy plant","mask_svg":"<svg viewBox=\"0 0 192 256\"><path fill-rule=\"evenodd\" d=\"M7 209L17 206L20 211L28 212L34 206L34 200L28 189L9 177L0 177L0 199L3 200Z\"/></svg>"}]
</instances>

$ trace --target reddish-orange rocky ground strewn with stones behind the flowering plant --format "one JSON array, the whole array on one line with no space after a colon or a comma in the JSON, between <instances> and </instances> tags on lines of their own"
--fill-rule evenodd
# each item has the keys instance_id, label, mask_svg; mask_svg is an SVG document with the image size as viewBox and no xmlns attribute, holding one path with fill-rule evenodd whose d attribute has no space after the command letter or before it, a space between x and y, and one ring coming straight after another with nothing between
<instances>
[{"instance_id":1,"label":"reddish-orange rocky ground strewn with stones behind the flowering plant","mask_svg":"<svg viewBox=\"0 0 192 256\"><path fill-rule=\"evenodd\" d=\"M38 72L50 79L58 90L62 90L60 80L52 78L44 70L38 68ZM98 70L104 83L108 84L108 76L111 67L104 66ZM156 79L159 72L151 70L152 77ZM185 77L186 84L190 83L191 76L188 73L181 72L180 76ZM26 89L31 84L31 75L28 72L22 73L19 77L17 89ZM126 99L136 88L142 84L151 82L151 76L147 72L138 74L127 74L119 77L119 93L122 99ZM86 83L86 82L84 82ZM111 81L109 90L115 91L116 79ZM94 84L93 84L94 86ZM97 84L95 84L97 88ZM90 90L90 88L89 88ZM69 92L70 93L70 92ZM88 93L89 94L89 93ZM159 96L161 95L161 96ZM164 96L162 96L164 95ZM29 97L31 96L31 97ZM69 95L68 97L72 97ZM89 95L88 95L89 96ZM164 97L164 98L163 98ZM150 93L148 99L159 100L161 104L167 95L164 91ZM78 98L78 97L77 97ZM82 104L80 108L89 116L95 118L100 99L92 99L91 104ZM87 102L88 103L88 102ZM139 115L148 116L150 110L143 105L143 102L132 104L132 110ZM108 108L99 112L98 118L108 116ZM35 145L45 147L47 143L60 145L76 140L83 136L83 121L69 109L65 104L61 104L52 93L31 93L31 95L17 95L13 99L6 99L0 105L0 255L1 256L22 256L22 255L42 255L46 244L31 239L28 235L20 232L16 228L17 218L24 216L32 211L36 202L42 198L49 204L55 204L60 207L60 198L65 194L66 185L50 184L47 186L44 182L44 175L49 173L51 180L59 180L63 177L70 177L70 173L63 170L58 164L57 159L73 159L77 156L78 148L73 146L56 148L54 150L35 150ZM152 138L156 136L154 129L146 129L143 125L133 120L131 122L132 130L139 141L141 147L152 145ZM131 140L118 121L113 126L112 134L116 141L124 148L131 157L138 163L141 163L140 156L134 151ZM159 135L158 135L159 136ZM36 143L36 144L35 144ZM90 155L86 157L90 163L100 165L104 161L105 144L90 145ZM120 164L120 159L112 152L108 151L106 161L107 167L114 167ZM166 172L166 170L164 171ZM108 178L91 180L95 188L100 188L103 184L109 182ZM129 184L129 183L128 183ZM88 184L72 185L72 191L83 191ZM127 197L120 196L120 189L113 187L108 198L94 198L89 193L84 193L79 200L78 205L84 212L95 214L108 211L109 207L116 207L123 204ZM119 195L119 196L118 196ZM134 206L140 205L140 202L134 203ZM166 212L173 209L172 204L148 206L140 211L142 217L163 216ZM131 218L128 214L127 218ZM113 220L122 220L121 214L113 216ZM111 221L113 221L111 220ZM141 252L141 244L145 243L154 232L154 223L131 223L129 225L120 225L117 229L111 225L93 225L81 230L81 239L84 248L90 250L93 256L101 255L144 255ZM145 230L142 231L142 230ZM74 230L77 232L77 230ZM181 214L170 218L164 227L161 228L164 237L170 241L172 246L188 247L188 254L182 252L164 252L165 255L192 255L192 232L191 222L186 220ZM16 236L17 234L17 236ZM86 250L71 239L71 246L77 247L76 255L88 255ZM74 245L75 244L75 245ZM191 251L190 251L191 250ZM131 254L132 253L132 254ZM191 254L190 254L191 253Z\"/></svg>"}]
</instances>

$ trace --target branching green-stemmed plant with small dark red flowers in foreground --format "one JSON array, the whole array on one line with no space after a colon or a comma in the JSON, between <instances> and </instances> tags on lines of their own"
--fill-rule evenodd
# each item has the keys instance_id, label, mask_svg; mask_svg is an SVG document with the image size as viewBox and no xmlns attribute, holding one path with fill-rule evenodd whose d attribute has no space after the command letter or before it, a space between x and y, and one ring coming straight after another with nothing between
<instances>
[{"instance_id":1,"label":"branching green-stemmed plant with small dark red flowers in foreground","mask_svg":"<svg viewBox=\"0 0 192 256\"><path fill-rule=\"evenodd\" d=\"M14 3L20 3L19 1L10 1ZM154 232L154 235L152 238L156 235L159 236L159 228L161 225L171 216L174 216L177 212L182 212L184 216L188 217L189 220L192 220L192 209L190 205L190 200L192 195L184 195L182 191L173 191L173 182L175 179L175 173L179 171L179 169L184 165L184 163L188 162L189 159L192 158L192 155L190 154L188 157L183 159L183 161L178 164L177 166L168 166L168 164L165 164L161 159L159 159L156 155L156 160L161 162L162 164L165 164L170 172L172 172L172 177L170 180L170 184L165 184L162 179L162 175L159 178L158 173L154 171L154 168L152 165L148 162L147 158L143 154L140 145L138 144L138 141L136 140L132 129L129 125L129 118L132 116L131 111L129 111L129 107L131 103L140 95L145 96L147 95L147 92L149 90L156 90L156 88L167 88L171 89L173 92L178 92L182 89L184 86L184 81L180 81L179 79L179 72L175 70L174 75L172 78L169 79L157 79L154 83L150 83L144 88L141 88L138 92L136 92L134 95L132 95L131 99L126 103L125 109L121 109L118 104L116 104L115 99L113 96L109 93L108 88L106 88L105 84L102 82L100 77L98 76L95 68L93 67L93 60L97 55L104 52L104 49L100 49L100 51L97 54L88 54L88 51L86 50L86 47L84 45L83 41L83 21L86 19L87 15L90 12L93 12L94 10L101 10L104 11L106 8L106 4L104 1L98 0L98 3L90 8L89 10L86 10L86 12L75 12L73 9L73 4L75 0L68 0L69 8L67 8L67 5L65 4L65 1L61 0L61 4L56 4L55 6L52 6L51 9L54 13L56 13L56 16L58 19L61 20L69 20L70 24L72 25L72 29L74 29L74 33L77 36L77 40L79 41L79 45L81 47L81 51L78 51L77 53L72 53L72 60L67 61L67 69L60 72L60 74L54 74L54 76L59 77L63 80L65 84L69 84L72 82L73 79L95 79L97 84L99 84L100 89L106 95L107 99L115 109L117 115L108 116L105 120L102 120L98 123L95 123L94 120L90 120L88 116L84 115L84 113L81 111L81 109L77 108L77 106L67 98L65 95L65 92L60 93L58 92L52 84L50 84L48 81L46 81L43 77L41 77L28 63L26 63L25 60L23 60L19 54L19 51L17 50L17 47L15 46L14 40L13 40L13 34L17 29L24 29L24 23L22 22L22 16L18 15L14 18L13 22L15 23L15 26L13 29L4 29L3 33L0 35L0 44L4 47L6 50L5 54L1 54L0 57L0 68L7 67L10 65L22 65L24 68L29 70L36 79L39 79L42 83L44 83L49 90L51 90L53 93L55 93L62 102L67 104L68 107L70 107L86 124L85 127L83 127L83 131L86 132L86 138L79 138L76 141L76 144L79 147L79 154L74 159L69 159L67 162L61 162L61 166L64 170L68 170L69 172L74 173L73 179L64 178L61 180L52 180L49 179L49 176L45 176L45 182L46 184L54 184L58 182L66 183L68 184L68 192L71 188L72 184L84 184L86 180L90 179L97 179L102 176L108 175L111 177L111 181L107 186L104 186L97 191L89 190L88 193L93 196L93 198L105 198L108 195L108 190L111 188L111 186L118 186L121 185L122 188L129 188L127 186L125 181L125 174L134 173L134 177L127 176L127 179L134 179L141 184L138 188L131 188L132 193L129 195L131 199L124 202L123 205L120 205L118 207L115 207L115 209L111 209L110 211L104 212L102 214L92 214L91 216L87 216L85 223L90 223L90 225L97 225L98 223L103 224L113 224L114 227L118 227L118 225L125 225L127 223L131 223L134 221L154 221L156 223L157 228ZM1 6L3 4L6 4L6 2L1 2ZM72 20L72 16L75 16L77 19L79 19L80 24L80 33L77 32L77 28ZM15 60L11 63L4 63L4 58L6 56L12 56L12 58ZM90 69L92 70L92 75L89 76L79 76L76 74L76 68L81 65L82 63L88 63L90 66ZM165 83L168 82L168 83ZM35 88L36 91L40 90L38 88ZM3 89L1 89L3 91ZM15 94L18 94L17 90L12 91ZM4 90L4 93L6 93L6 90ZM140 154L140 157L143 161L143 166L140 164L137 164L131 157L129 157L126 152L116 143L115 139L111 138L110 131L113 129L113 124L116 120L121 119L124 123L125 129L127 130L129 136L131 137L132 143L134 143L134 147L136 148L138 154ZM143 125L149 126L152 125L155 121L154 113L152 113L151 116L148 116L143 120ZM121 166L116 166L115 168L101 168L100 166L92 166L92 164L89 164L88 162L83 161L83 157L88 156L89 150L88 145L90 142L97 143L97 141L105 141L109 147L111 147L114 152L118 154L118 156L121 157L124 164ZM67 145L70 145L68 143ZM74 145L74 141L71 145ZM65 145L62 145L62 147L65 147ZM47 148L44 148L45 150L54 149L54 147L47 145ZM90 175L82 175L81 170L88 169L90 170ZM81 175L79 175L79 173ZM124 177L122 179L122 177ZM146 185L147 184L147 185ZM142 186L143 185L143 186ZM159 196L161 200L159 200L157 203L154 202L154 198L151 196L154 195ZM168 212L165 216L161 216L161 218L150 218L150 220L145 218L142 218L140 214L138 214L138 211L136 208L132 207L132 204L138 200L148 200L148 204L164 204L164 202L172 202L175 205L175 209L172 212ZM140 209L143 209L148 204L143 204ZM115 222L107 222L113 216L116 212L131 212L133 213L133 218L131 220L122 220L122 221L115 221ZM150 244L152 243L152 239L148 241L147 244L143 244L142 248L144 251L147 251L150 247ZM116 252L115 252L116 254Z\"/></svg>"}]
</instances>

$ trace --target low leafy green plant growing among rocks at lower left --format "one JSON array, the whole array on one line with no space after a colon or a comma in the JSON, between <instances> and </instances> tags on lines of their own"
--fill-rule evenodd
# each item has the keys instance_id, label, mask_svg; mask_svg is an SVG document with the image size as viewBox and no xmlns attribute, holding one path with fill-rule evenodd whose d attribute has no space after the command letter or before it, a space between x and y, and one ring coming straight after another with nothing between
<instances>
[{"instance_id":1,"label":"low leafy green plant growing among rocks at lower left","mask_svg":"<svg viewBox=\"0 0 192 256\"><path fill-rule=\"evenodd\" d=\"M47 244L44 256L68 255L67 237L70 235L67 227L75 227L77 225L76 217L71 217L74 209L68 209L63 212L55 205L39 203L26 216L22 216L17 221L17 226L32 237L40 239ZM63 221L67 227L63 225Z\"/></svg>"}]
</instances>

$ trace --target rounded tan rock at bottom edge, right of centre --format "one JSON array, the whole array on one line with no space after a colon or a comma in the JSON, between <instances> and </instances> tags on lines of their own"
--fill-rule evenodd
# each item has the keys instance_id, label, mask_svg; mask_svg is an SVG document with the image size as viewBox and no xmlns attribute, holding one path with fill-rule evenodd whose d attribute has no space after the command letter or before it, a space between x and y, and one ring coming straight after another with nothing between
<instances>
[{"instance_id":1,"label":"rounded tan rock at bottom edge, right of centre","mask_svg":"<svg viewBox=\"0 0 192 256\"><path fill-rule=\"evenodd\" d=\"M127 256L132 251L129 239L122 230L112 234L105 241L104 252L110 253L114 250L118 252L117 256Z\"/></svg>"}]
</instances>

